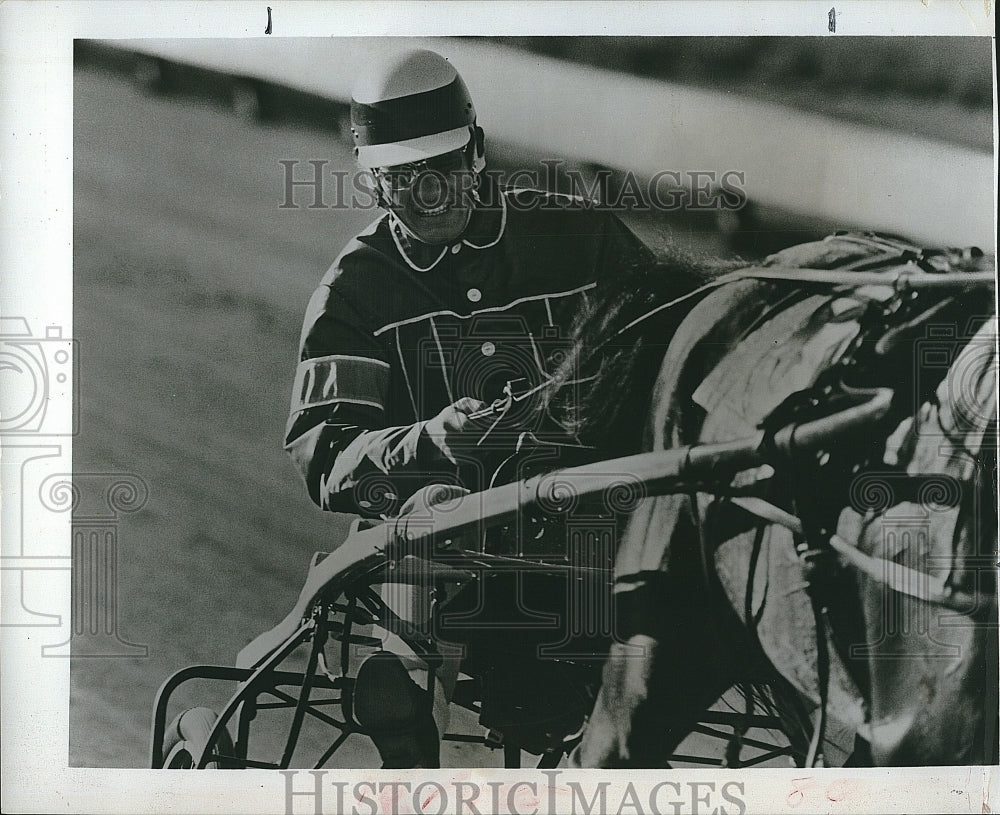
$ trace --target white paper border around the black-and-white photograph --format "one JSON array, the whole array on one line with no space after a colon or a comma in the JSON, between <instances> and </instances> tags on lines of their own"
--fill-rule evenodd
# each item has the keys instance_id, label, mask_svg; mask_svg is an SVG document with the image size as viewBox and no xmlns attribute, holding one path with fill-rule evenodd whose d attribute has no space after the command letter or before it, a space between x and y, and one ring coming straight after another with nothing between
<instances>
[{"instance_id":1,"label":"white paper border around the black-and-white photograph","mask_svg":"<svg viewBox=\"0 0 1000 815\"><path fill-rule=\"evenodd\" d=\"M72 336L72 123L75 38L260 37L270 3L274 37L504 35L954 35L992 37L995 10L985 2L945 0L824 0L824 2L5 2L0 4L0 269L3 312L32 326L63 326ZM836 10L837 33L828 13ZM995 54L994 54L995 56ZM996 150L994 78L994 151ZM994 168L996 154L994 152ZM994 184L996 183L994 173ZM994 187L994 206L996 189ZM994 221L995 209L994 209ZM995 246L993 247L995 251ZM64 398L70 398L69 391ZM56 445L54 468L71 469L72 439ZM5 440L5 448L8 445ZM10 451L4 450L5 454ZM51 611L70 619L68 517L36 513L37 496L3 484L4 568L21 529L65 541L62 556L46 558L51 569ZM12 503L23 502L23 518ZM15 553L16 554L16 553ZM8 560L8 558L13 558ZM23 565L23 564L21 564ZM4 586L7 587L5 582ZM16 602L4 599L4 612ZM181 813L286 811L287 778L279 773L188 773L68 768L69 660L42 659L41 646L66 638L58 628L2 629L3 810L6 812ZM517 775L513 775L513 773ZM540 771L367 771L365 779L416 783L457 779L535 782ZM652 785L656 771L602 772L612 790L626 782ZM351 784L357 773L330 771ZM559 783L589 784L593 772L562 771ZM988 812L1000 803L997 768L852 770L673 770L679 783L741 782L747 812ZM311 783L307 773L295 790ZM485 789L485 786L484 786ZM516 798L521 811L545 812L540 803ZM834 795L831 790L836 790ZM506 798L501 798L506 801ZM563 798L559 799L565 803ZM613 792L609 800L617 801ZM311 812L308 796L294 811ZM317 804L318 806L318 804ZM989 807L989 808L987 808ZM481 803L487 811L488 802ZM328 801L324 812L335 812ZM364 811L364 810L361 810ZM632 810L627 810L632 811ZM738 811L738 810L729 810Z\"/></svg>"}]
</instances>

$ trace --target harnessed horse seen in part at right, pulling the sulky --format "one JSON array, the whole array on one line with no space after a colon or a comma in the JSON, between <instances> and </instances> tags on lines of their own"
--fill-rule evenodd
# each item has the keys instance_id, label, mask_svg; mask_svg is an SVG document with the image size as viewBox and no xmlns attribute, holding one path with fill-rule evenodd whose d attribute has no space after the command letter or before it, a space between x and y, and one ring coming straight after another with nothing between
<instances>
[{"instance_id":1,"label":"harnessed horse seen in part at right, pulling the sulky","mask_svg":"<svg viewBox=\"0 0 1000 815\"><path fill-rule=\"evenodd\" d=\"M557 375L590 386L549 396L566 430L611 458L763 428L776 463L638 501L574 764L669 766L733 686L800 764L997 763L993 304L991 258L873 234L604 286ZM864 432L782 442L874 393Z\"/></svg>"}]
</instances>

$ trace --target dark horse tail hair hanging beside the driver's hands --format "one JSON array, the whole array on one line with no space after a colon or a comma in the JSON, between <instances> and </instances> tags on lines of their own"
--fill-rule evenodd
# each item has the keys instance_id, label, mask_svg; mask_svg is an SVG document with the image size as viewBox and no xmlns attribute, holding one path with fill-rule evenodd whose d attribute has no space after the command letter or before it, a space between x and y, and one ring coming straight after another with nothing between
<instances>
[{"instance_id":1,"label":"dark horse tail hair hanging beside the driver's hands","mask_svg":"<svg viewBox=\"0 0 1000 815\"><path fill-rule=\"evenodd\" d=\"M741 265L671 248L655 260L609 270L577 314L573 351L556 372L560 381L579 384L554 390L550 413L568 433L604 452L638 451L644 429L639 419L646 416L667 344L698 297L630 324Z\"/></svg>"}]
</instances>

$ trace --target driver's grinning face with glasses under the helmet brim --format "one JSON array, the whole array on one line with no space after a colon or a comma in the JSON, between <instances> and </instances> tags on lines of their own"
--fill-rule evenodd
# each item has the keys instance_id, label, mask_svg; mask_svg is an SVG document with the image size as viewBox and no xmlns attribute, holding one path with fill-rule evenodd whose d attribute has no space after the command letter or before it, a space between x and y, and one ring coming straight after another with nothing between
<instances>
[{"instance_id":1,"label":"driver's grinning face with glasses under the helmet brim","mask_svg":"<svg viewBox=\"0 0 1000 815\"><path fill-rule=\"evenodd\" d=\"M421 243L450 243L465 232L475 180L469 148L419 164L382 167L378 176L392 211Z\"/></svg>"}]
</instances>

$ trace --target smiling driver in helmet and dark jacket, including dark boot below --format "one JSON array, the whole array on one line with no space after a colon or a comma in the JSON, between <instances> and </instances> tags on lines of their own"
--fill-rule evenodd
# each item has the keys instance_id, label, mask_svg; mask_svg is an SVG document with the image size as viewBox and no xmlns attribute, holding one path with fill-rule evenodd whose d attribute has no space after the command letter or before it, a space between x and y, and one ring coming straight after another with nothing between
<instances>
[{"instance_id":1,"label":"smiling driver in helmet and dark jacket, including dark boot below","mask_svg":"<svg viewBox=\"0 0 1000 815\"><path fill-rule=\"evenodd\" d=\"M505 388L544 387L601 274L650 253L608 211L486 174L469 91L436 53L405 51L366 76L351 122L385 213L309 302L285 449L319 507L376 518L429 485L489 486L516 434L544 419L531 399L499 422L477 413ZM414 659L376 656L359 669L356 717L384 766L438 766Z\"/></svg>"}]
</instances>

